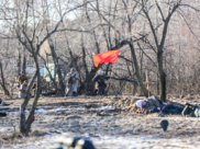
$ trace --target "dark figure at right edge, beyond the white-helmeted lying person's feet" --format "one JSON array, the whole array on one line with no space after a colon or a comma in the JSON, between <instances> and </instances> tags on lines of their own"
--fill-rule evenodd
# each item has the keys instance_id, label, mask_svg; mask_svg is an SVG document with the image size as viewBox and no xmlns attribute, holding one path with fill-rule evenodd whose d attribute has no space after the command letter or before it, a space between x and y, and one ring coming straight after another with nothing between
<instances>
[{"instance_id":1,"label":"dark figure at right edge, beyond the white-helmeted lying person's feet","mask_svg":"<svg viewBox=\"0 0 200 149\"><path fill-rule=\"evenodd\" d=\"M200 106L187 102L181 114L182 116L200 117Z\"/></svg>"}]
</instances>

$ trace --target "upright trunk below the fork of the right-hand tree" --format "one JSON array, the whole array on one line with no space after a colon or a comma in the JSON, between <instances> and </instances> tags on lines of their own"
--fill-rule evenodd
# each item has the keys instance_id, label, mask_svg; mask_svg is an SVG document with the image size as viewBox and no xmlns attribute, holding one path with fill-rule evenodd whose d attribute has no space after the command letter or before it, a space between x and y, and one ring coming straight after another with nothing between
<instances>
[{"instance_id":1,"label":"upright trunk below the fork of the right-hand tree","mask_svg":"<svg viewBox=\"0 0 200 149\"><path fill-rule=\"evenodd\" d=\"M166 101L166 74L163 70L163 50L157 54L157 71L159 79L159 96L162 101Z\"/></svg>"}]
</instances>

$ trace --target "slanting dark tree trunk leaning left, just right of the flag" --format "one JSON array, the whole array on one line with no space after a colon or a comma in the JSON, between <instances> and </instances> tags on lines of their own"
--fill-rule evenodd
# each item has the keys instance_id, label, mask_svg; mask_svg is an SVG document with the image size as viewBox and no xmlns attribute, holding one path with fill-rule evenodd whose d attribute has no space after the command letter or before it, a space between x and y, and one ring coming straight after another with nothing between
<instances>
[{"instance_id":1,"label":"slanting dark tree trunk leaning left, just right of the flag","mask_svg":"<svg viewBox=\"0 0 200 149\"><path fill-rule=\"evenodd\" d=\"M135 76L137 78L138 84L141 87L141 90L143 91L144 95L146 98L148 98L148 91L146 90L145 84L143 83L142 77L140 74L140 70L138 70L138 65L137 65L137 60L136 60L136 55L135 55L135 49L133 47L133 44L130 43L130 48L131 48L131 54L132 54L132 58L133 58L133 64L134 64L134 70L135 70Z\"/></svg>"}]
</instances>

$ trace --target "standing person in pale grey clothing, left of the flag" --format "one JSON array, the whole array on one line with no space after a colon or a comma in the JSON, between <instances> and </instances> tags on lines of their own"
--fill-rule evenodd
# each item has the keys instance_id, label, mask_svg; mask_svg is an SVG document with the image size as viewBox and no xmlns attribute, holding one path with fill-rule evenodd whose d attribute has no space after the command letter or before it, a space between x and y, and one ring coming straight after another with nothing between
<instances>
[{"instance_id":1,"label":"standing person in pale grey clothing, left of the flag","mask_svg":"<svg viewBox=\"0 0 200 149\"><path fill-rule=\"evenodd\" d=\"M71 68L70 72L67 73L67 96L76 96L77 95L77 81L80 80L76 73L76 68Z\"/></svg>"}]
</instances>

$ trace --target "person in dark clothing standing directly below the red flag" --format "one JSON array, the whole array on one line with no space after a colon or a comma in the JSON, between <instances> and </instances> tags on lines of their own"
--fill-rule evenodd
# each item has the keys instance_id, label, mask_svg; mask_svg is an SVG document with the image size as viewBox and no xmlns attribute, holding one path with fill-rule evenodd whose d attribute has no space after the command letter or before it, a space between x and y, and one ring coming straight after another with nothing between
<instances>
[{"instance_id":1,"label":"person in dark clothing standing directly below the red flag","mask_svg":"<svg viewBox=\"0 0 200 149\"><path fill-rule=\"evenodd\" d=\"M95 82L98 82L98 94L104 94L104 89L108 85L108 79L111 77L107 77L103 74L103 70L99 70L99 74L93 79Z\"/></svg>"}]
</instances>

